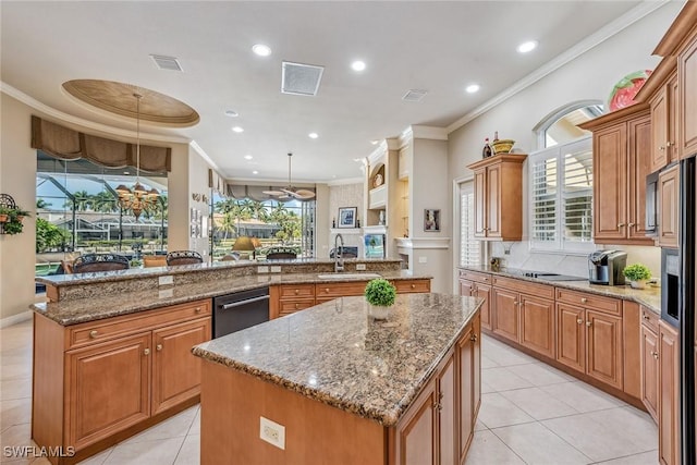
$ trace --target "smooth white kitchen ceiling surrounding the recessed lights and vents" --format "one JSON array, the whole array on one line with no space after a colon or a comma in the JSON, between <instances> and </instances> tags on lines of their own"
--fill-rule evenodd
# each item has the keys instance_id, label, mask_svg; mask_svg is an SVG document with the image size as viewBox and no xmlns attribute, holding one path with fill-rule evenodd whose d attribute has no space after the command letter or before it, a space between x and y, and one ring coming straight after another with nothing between
<instances>
[{"instance_id":1,"label":"smooth white kitchen ceiling surrounding the recessed lights and vents","mask_svg":"<svg viewBox=\"0 0 697 465\"><path fill-rule=\"evenodd\" d=\"M327 182L360 175L354 159L375 149L370 140L413 124L452 125L638 3L3 0L1 79L68 115L129 131L132 120L85 108L61 84L157 90L193 107L200 122L142 131L195 140L224 176L284 180L292 151L294 181ZM539 48L518 54L527 39ZM273 53L253 54L258 42ZM176 57L184 72L158 70L151 53ZM351 70L355 59L366 71ZM326 66L316 97L280 93L282 60ZM481 90L466 94L470 83ZM408 89L428 95L406 102Z\"/></svg>"}]
</instances>

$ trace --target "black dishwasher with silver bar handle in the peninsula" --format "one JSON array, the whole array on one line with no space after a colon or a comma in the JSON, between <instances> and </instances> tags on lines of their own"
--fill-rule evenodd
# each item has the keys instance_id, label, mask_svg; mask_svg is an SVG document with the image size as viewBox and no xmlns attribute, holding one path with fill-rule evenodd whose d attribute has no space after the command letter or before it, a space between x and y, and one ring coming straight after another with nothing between
<instances>
[{"instance_id":1,"label":"black dishwasher with silver bar handle in the peninsula","mask_svg":"<svg viewBox=\"0 0 697 465\"><path fill-rule=\"evenodd\" d=\"M268 286L213 298L213 339L268 320Z\"/></svg>"}]
</instances>

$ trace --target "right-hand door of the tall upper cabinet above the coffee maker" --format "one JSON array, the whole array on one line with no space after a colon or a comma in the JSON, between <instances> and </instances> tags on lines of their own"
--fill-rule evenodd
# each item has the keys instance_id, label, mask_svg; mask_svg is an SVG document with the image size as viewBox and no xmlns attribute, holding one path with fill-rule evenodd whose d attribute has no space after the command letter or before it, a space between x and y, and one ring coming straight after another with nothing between
<instances>
[{"instance_id":1,"label":"right-hand door of the tall upper cabinet above the coffee maker","mask_svg":"<svg viewBox=\"0 0 697 465\"><path fill-rule=\"evenodd\" d=\"M649 163L651 147L651 120L639 118L627 123L628 131L628 222L627 238L653 245L646 228L646 176L651 173Z\"/></svg>"}]
</instances>

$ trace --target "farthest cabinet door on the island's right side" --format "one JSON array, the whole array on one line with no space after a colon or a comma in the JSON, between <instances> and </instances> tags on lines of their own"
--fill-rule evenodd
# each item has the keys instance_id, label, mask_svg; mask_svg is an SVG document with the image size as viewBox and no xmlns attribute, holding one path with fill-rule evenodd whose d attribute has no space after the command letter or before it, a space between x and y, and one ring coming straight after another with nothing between
<instances>
[{"instance_id":1,"label":"farthest cabinet door on the island's right side","mask_svg":"<svg viewBox=\"0 0 697 465\"><path fill-rule=\"evenodd\" d=\"M462 339L457 342L457 360L458 360L458 392L457 399L460 404L460 415L457 416L460 420L460 462L463 463L465 455L467 454L467 449L469 448L469 442L473 436L473 425L475 418L475 412L473 408L473 383L472 372L474 371L474 351L472 345L472 339L474 335L474 328L467 328L467 331L462 336Z\"/></svg>"}]
</instances>

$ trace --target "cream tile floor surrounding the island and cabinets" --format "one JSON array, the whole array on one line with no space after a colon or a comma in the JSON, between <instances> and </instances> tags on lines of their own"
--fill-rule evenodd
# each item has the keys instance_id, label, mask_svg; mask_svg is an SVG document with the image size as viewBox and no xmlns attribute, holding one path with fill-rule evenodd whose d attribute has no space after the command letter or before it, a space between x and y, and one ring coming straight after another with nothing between
<instances>
[{"instance_id":1,"label":"cream tile floor surrounding the island and cabinets","mask_svg":"<svg viewBox=\"0 0 697 465\"><path fill-rule=\"evenodd\" d=\"M32 323L0 330L1 462L5 446L33 445ZM484 338L482 399L467 465L656 464L658 430L648 414ZM195 465L199 408L194 406L82 464Z\"/></svg>"}]
</instances>

